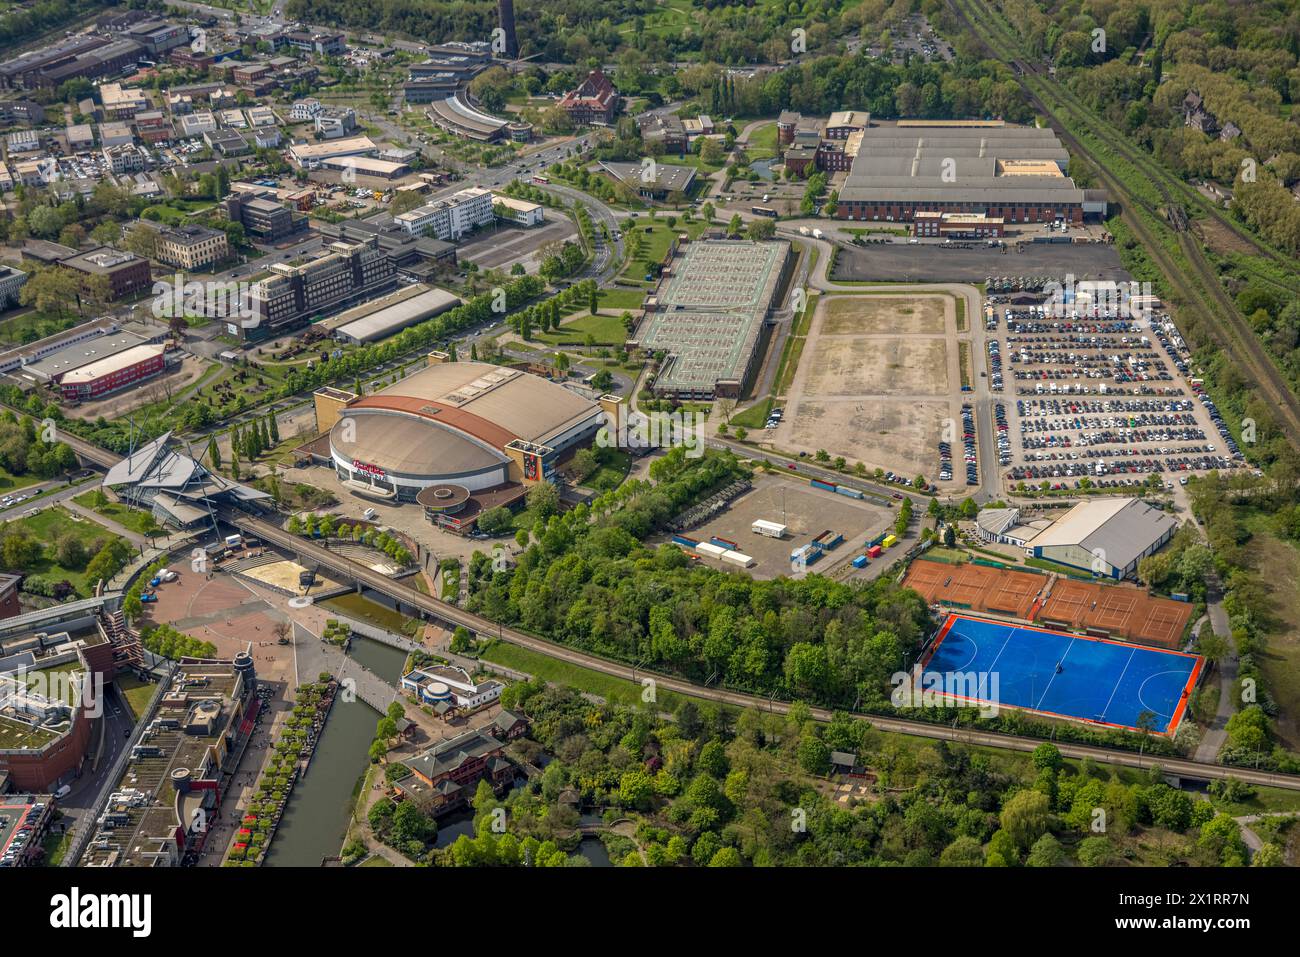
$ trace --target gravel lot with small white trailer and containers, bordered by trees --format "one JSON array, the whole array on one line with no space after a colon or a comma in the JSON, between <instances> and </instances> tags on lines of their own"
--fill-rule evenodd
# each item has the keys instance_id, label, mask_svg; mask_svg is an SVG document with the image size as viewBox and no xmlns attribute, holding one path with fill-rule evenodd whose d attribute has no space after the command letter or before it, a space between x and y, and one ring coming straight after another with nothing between
<instances>
[{"instance_id":1,"label":"gravel lot with small white trailer and containers, bordered by trees","mask_svg":"<svg viewBox=\"0 0 1300 957\"><path fill-rule=\"evenodd\" d=\"M790 573L793 549L806 545L826 529L841 533L845 541L812 566L818 572L826 572L861 554L861 549L855 550L855 546L885 531L893 524L893 512L881 506L814 489L781 476L758 476L753 492L737 498L712 521L685 534L701 541L707 541L711 536L733 541L740 551L757 562L749 570L750 575L755 579L775 579ZM788 525L785 537L767 538L755 534L753 524L757 519ZM711 558L699 560L715 568L734 568Z\"/></svg>"}]
</instances>

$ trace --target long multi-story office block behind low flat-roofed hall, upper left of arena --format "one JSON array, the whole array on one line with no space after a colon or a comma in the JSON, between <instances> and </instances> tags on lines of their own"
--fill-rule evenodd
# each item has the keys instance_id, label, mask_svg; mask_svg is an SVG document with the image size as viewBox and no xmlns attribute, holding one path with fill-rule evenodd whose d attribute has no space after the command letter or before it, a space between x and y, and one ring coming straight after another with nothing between
<instances>
[{"instance_id":1,"label":"long multi-story office block behind low flat-roofed hall, upper left of arena","mask_svg":"<svg viewBox=\"0 0 1300 957\"><path fill-rule=\"evenodd\" d=\"M394 285L396 272L378 241L330 243L306 261L276 263L254 277L252 308L257 321L238 332L250 339L263 339Z\"/></svg>"}]
</instances>

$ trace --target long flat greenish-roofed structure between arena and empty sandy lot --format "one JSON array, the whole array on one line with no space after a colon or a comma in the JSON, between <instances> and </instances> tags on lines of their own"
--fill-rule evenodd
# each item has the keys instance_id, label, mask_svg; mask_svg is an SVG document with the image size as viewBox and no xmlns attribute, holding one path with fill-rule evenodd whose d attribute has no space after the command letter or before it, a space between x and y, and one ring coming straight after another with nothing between
<instances>
[{"instance_id":1,"label":"long flat greenish-roofed structure between arena and empty sandy lot","mask_svg":"<svg viewBox=\"0 0 1300 957\"><path fill-rule=\"evenodd\" d=\"M655 395L744 395L792 261L785 242L679 243L629 342L647 352L667 352Z\"/></svg>"}]
</instances>

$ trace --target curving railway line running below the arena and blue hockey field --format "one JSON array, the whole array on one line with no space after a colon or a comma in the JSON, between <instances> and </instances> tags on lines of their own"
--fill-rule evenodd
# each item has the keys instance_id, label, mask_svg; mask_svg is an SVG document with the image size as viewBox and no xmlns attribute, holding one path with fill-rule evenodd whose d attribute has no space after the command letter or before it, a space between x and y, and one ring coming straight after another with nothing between
<instances>
[{"instance_id":1,"label":"curving railway line running below the arena and blue hockey field","mask_svg":"<svg viewBox=\"0 0 1300 957\"><path fill-rule=\"evenodd\" d=\"M98 446L84 442L83 439L68 441L68 445L86 460L94 462L105 468L121 460L121 456L99 449ZM545 654L549 658L556 658L559 661L589 668L592 671L598 671L604 675L612 675L615 677L632 681L645 681L646 679L651 679L656 688L663 688L666 690L686 694L694 698L702 698L705 701L712 701L720 705L766 710L774 714L785 714L790 709L788 702L776 701L775 698L764 698L757 694L745 694L742 692L698 685L680 677L670 677L667 675L649 672L645 668L611 662L566 645L558 645L555 642L534 637L514 628L506 628L497 622L481 618L480 615L458 609L455 605L448 605L432 596L424 594L410 585L390 579L368 566L354 562L346 555L341 555L337 551L333 551L322 545L317 545L311 540L290 534L280 525L270 521L265 521L229 507L224 507L218 512L218 518L251 537L260 538L264 542L292 553L308 562L318 563L320 566L329 568L341 580L350 581L360 588L369 588L378 592L380 594L384 594L429 619L443 622L450 625L464 625L478 635L494 636L502 641L508 641L512 645L519 645L520 648L526 648L532 651L537 651L538 654ZM822 722L828 722L832 718L832 711L823 707L811 709L811 714L812 718ZM930 737L944 741L957 741L967 745L1004 748L1015 752L1032 752L1043 744L1041 739L1035 737L1002 735L991 731L978 731L974 728L956 728L944 724L909 720L905 718L888 718L881 715L859 716L863 720L871 722L874 727L880 728L881 731L892 731L901 735L914 735L918 737ZM1186 758L1134 754L1132 752L1121 752L1110 748L1097 748L1093 745L1058 742L1057 748L1060 748L1065 757L1074 759L1092 758L1093 761L1106 765L1138 768L1160 766L1166 774L1178 775L1180 778L1191 778L1193 780L1222 780L1225 778L1235 778L1248 784L1300 791L1300 775L1228 767L1225 765L1190 761Z\"/></svg>"}]
</instances>

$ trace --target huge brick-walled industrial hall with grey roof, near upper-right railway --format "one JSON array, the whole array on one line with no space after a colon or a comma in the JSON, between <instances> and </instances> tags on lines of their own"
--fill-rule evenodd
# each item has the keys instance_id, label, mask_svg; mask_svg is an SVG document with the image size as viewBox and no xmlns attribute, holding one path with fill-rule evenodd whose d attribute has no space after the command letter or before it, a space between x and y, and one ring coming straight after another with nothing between
<instances>
[{"instance_id":1,"label":"huge brick-walled industrial hall with grey roof, near upper-right railway","mask_svg":"<svg viewBox=\"0 0 1300 957\"><path fill-rule=\"evenodd\" d=\"M900 122L857 135L841 220L910 222L928 212L1078 225L1086 213L1105 213L1104 199L1066 176L1070 155L1050 129ZM991 226L1000 233L1001 222Z\"/></svg>"}]
</instances>

